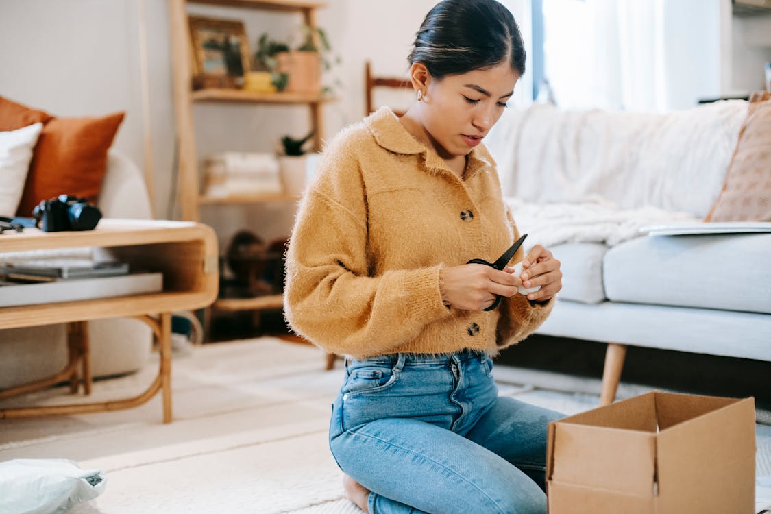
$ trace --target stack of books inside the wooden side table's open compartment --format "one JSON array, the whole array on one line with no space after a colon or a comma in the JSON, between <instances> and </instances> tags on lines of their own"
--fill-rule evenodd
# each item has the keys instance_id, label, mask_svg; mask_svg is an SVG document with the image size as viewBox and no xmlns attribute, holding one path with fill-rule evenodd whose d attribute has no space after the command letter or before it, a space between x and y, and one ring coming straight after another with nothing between
<instances>
[{"instance_id":1,"label":"stack of books inside the wooden side table's open compartment","mask_svg":"<svg viewBox=\"0 0 771 514\"><path fill-rule=\"evenodd\" d=\"M130 274L123 262L52 258L0 264L0 307L157 291L163 291L163 274Z\"/></svg>"}]
</instances>

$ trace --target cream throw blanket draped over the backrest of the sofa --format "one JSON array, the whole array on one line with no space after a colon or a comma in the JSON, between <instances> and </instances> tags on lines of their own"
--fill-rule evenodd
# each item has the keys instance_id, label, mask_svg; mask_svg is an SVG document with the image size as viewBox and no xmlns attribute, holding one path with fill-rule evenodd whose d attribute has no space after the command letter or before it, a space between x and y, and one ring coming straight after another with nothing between
<instances>
[{"instance_id":1,"label":"cream throw blanket draped over the backrest of the sofa","mask_svg":"<svg viewBox=\"0 0 771 514\"><path fill-rule=\"evenodd\" d=\"M485 144L503 194L531 203L613 203L704 217L718 197L747 102L670 113L509 109Z\"/></svg>"}]
</instances>

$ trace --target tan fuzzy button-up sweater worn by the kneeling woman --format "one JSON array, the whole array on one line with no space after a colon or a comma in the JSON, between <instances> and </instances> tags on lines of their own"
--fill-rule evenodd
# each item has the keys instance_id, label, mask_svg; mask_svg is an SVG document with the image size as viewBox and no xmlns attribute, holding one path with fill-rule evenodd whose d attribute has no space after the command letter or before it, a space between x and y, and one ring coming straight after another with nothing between
<instances>
[{"instance_id":1,"label":"tan fuzzy button-up sweater worn by the kneeling woman","mask_svg":"<svg viewBox=\"0 0 771 514\"><path fill-rule=\"evenodd\" d=\"M291 328L335 354L497 354L554 301L521 294L494 311L447 308L439 270L493 262L519 237L483 145L460 179L388 108L342 130L301 201L286 261ZM524 258L520 249L512 259Z\"/></svg>"}]
</instances>

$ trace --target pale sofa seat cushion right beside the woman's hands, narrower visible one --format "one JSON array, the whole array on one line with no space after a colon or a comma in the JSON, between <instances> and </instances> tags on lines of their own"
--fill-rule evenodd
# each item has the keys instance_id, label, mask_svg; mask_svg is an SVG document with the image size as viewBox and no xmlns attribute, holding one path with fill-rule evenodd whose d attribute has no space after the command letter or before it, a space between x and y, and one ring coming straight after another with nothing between
<instances>
[{"instance_id":1,"label":"pale sofa seat cushion right beside the woman's hands, narrower visible one","mask_svg":"<svg viewBox=\"0 0 771 514\"><path fill-rule=\"evenodd\" d=\"M602 257L608 247L599 243L559 244L551 248L562 270L561 300L597 304L605 299Z\"/></svg>"}]
</instances>

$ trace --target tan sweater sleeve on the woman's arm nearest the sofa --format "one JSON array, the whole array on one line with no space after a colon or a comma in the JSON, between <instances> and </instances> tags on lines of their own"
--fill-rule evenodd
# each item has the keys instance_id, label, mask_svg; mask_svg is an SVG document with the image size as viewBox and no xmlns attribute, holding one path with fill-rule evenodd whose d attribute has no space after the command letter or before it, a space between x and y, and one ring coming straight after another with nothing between
<instances>
[{"instance_id":1,"label":"tan sweater sleeve on the woman's arm nearest the sofa","mask_svg":"<svg viewBox=\"0 0 771 514\"><path fill-rule=\"evenodd\" d=\"M520 232L517 225L511 217L510 211L506 210L509 223L513 227L514 240L520 238ZM512 263L524 260L524 249L517 250L514 254ZM503 298L500 303L500 318L497 325L496 342L498 348L506 348L512 344L517 344L528 335L532 334L549 316L554 307L555 298L546 302L529 301L523 294L515 294L510 298Z\"/></svg>"}]
</instances>

